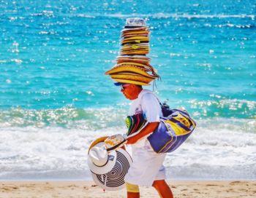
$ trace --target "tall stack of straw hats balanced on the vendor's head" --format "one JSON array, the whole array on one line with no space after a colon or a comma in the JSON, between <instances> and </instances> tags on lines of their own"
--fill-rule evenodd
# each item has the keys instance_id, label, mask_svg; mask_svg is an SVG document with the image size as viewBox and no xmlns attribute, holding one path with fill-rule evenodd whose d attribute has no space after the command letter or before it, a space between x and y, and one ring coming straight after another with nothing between
<instances>
[{"instance_id":1,"label":"tall stack of straw hats balanced on the vendor's head","mask_svg":"<svg viewBox=\"0 0 256 198\"><path fill-rule=\"evenodd\" d=\"M149 30L140 18L128 18L121 31L121 51L116 65L105 74L120 83L149 85L159 78L157 71L150 65Z\"/></svg>"}]
</instances>

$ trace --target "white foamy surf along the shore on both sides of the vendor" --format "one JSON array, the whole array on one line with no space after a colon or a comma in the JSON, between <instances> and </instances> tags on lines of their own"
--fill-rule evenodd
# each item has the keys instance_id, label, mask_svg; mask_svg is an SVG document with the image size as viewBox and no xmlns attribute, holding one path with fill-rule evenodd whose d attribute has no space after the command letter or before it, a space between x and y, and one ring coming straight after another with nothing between
<instances>
[{"instance_id":1,"label":"white foamy surf along the shore on both sides of the vendor","mask_svg":"<svg viewBox=\"0 0 256 198\"><path fill-rule=\"evenodd\" d=\"M223 121L215 125L213 120L198 122L189 139L167 154L167 178L255 179L255 122L244 120L244 125L251 126L249 131L233 122ZM124 132L124 127L96 131L1 127L0 180L89 180L87 151L90 143L100 136Z\"/></svg>"}]
</instances>

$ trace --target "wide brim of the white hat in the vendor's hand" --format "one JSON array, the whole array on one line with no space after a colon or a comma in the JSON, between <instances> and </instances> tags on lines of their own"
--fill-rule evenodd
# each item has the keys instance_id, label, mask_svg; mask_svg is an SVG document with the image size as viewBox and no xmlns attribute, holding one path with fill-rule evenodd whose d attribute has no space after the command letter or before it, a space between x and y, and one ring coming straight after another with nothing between
<instances>
[{"instance_id":1,"label":"wide brim of the white hat in the vendor's hand","mask_svg":"<svg viewBox=\"0 0 256 198\"><path fill-rule=\"evenodd\" d=\"M95 146L105 146L104 142L99 142ZM93 146L94 147L94 146ZM88 166L92 173L95 174L105 174L110 172L113 169L114 165L116 164L116 151L108 152L108 162L103 166L97 166L94 162L91 161L90 157L88 156Z\"/></svg>"}]
</instances>

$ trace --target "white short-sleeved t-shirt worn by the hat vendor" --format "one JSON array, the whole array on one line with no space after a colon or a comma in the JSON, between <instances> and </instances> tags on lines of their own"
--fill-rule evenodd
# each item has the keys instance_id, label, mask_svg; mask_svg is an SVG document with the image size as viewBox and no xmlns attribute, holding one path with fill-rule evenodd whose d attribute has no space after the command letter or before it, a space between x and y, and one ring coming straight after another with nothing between
<instances>
[{"instance_id":1,"label":"white short-sleeved t-shirt worn by the hat vendor","mask_svg":"<svg viewBox=\"0 0 256 198\"><path fill-rule=\"evenodd\" d=\"M132 100L132 104L129 108L129 116L141 113L146 115L148 122L159 122L160 116L162 116L162 109L159 104L159 100L157 99L157 96L154 95L154 93L150 90L142 90L138 95L138 98ZM132 146L144 146L148 135L138 140L138 142Z\"/></svg>"}]
</instances>

